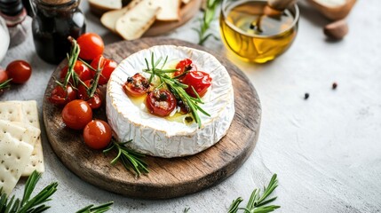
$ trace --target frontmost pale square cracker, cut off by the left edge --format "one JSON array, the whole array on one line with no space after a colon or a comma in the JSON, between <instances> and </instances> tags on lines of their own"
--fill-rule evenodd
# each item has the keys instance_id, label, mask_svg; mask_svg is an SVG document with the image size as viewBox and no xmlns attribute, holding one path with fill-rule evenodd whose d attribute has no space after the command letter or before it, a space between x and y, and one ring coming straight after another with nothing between
<instances>
[{"instance_id":1,"label":"frontmost pale square cracker, cut off by the left edge","mask_svg":"<svg viewBox=\"0 0 381 213\"><path fill-rule=\"evenodd\" d=\"M23 135L23 136L20 136ZM0 121L0 188L10 194L28 165L34 146L28 130L11 122Z\"/></svg>"}]
</instances>

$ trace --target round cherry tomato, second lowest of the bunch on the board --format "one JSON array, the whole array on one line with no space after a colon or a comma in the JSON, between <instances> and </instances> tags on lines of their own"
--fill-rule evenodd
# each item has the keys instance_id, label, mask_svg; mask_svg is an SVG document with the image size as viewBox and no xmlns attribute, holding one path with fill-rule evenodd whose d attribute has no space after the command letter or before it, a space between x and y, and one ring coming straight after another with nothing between
<instances>
[{"instance_id":1,"label":"round cherry tomato, second lowest of the bunch on the board","mask_svg":"<svg viewBox=\"0 0 381 213\"><path fill-rule=\"evenodd\" d=\"M62 120L71 129L83 130L92 120L91 107L84 100L72 100L62 109Z\"/></svg>"}]
</instances>

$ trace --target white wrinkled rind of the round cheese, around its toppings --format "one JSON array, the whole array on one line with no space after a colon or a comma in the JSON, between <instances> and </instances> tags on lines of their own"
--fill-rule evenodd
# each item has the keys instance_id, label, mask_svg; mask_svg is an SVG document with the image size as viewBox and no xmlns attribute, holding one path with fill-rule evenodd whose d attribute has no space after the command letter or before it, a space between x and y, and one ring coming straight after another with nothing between
<instances>
[{"instance_id":1,"label":"white wrinkled rind of the round cheese, around its toppings","mask_svg":"<svg viewBox=\"0 0 381 213\"><path fill-rule=\"evenodd\" d=\"M202 108L210 114L198 113L202 128L196 123L186 125L148 114L131 102L123 91L127 77L146 67L151 52L155 58L192 59L198 70L210 74L212 84L203 98ZM234 117L234 92L226 68L205 51L161 45L138 51L124 59L107 84L107 120L120 141L132 139L128 145L139 153L165 158L196 154L213 146L226 132Z\"/></svg>"}]
</instances>

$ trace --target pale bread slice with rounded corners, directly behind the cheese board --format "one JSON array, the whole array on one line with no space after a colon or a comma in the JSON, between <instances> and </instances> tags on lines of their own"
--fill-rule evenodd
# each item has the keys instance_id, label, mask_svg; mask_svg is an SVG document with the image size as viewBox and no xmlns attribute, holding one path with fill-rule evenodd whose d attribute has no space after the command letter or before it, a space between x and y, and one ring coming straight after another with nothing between
<instances>
[{"instance_id":1,"label":"pale bread slice with rounded corners, directly behind the cheese board","mask_svg":"<svg viewBox=\"0 0 381 213\"><path fill-rule=\"evenodd\" d=\"M137 2L133 3L134 6L128 8L115 23L115 31L125 40L134 40L142 36L155 22L156 15L160 12L160 7L152 4L151 0Z\"/></svg>"}]
</instances>

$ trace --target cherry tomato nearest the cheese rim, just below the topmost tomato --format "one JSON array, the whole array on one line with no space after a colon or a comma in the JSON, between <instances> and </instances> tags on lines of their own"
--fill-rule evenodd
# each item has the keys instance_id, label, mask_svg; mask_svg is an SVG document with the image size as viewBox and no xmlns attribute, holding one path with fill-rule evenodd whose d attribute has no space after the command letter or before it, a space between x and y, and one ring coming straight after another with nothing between
<instances>
[{"instance_id":1,"label":"cherry tomato nearest the cheese rim, just below the topmost tomato","mask_svg":"<svg viewBox=\"0 0 381 213\"><path fill-rule=\"evenodd\" d=\"M99 64L100 60L100 64ZM102 55L97 56L97 58L93 59L91 61L91 67L94 69L98 68L98 65L100 68L102 68L101 75L99 76L99 85L106 84L108 82L108 79L110 79L110 75L114 72L114 69L118 66L118 64L113 59L106 59ZM93 75L96 73L94 71Z\"/></svg>"}]
</instances>

